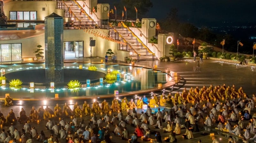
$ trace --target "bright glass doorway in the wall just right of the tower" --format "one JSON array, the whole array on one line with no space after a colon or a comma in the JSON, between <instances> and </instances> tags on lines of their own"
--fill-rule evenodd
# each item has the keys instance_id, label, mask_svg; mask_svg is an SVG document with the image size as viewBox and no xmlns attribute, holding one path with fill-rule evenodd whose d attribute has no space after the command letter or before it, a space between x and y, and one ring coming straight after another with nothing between
<instances>
[{"instance_id":1,"label":"bright glass doorway in the wall just right of the tower","mask_svg":"<svg viewBox=\"0 0 256 143\"><path fill-rule=\"evenodd\" d=\"M64 59L83 57L83 41L66 41L63 47Z\"/></svg>"}]
</instances>

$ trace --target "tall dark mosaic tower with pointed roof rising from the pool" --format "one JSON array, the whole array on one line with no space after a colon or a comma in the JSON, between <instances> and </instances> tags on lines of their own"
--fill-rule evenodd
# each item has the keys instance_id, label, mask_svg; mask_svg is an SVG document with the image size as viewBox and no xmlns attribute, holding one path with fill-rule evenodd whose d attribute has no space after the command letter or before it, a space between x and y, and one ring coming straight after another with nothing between
<instances>
[{"instance_id":1,"label":"tall dark mosaic tower with pointed roof rising from the pool","mask_svg":"<svg viewBox=\"0 0 256 143\"><path fill-rule=\"evenodd\" d=\"M45 82L64 82L63 17L52 13L45 24Z\"/></svg>"}]
</instances>

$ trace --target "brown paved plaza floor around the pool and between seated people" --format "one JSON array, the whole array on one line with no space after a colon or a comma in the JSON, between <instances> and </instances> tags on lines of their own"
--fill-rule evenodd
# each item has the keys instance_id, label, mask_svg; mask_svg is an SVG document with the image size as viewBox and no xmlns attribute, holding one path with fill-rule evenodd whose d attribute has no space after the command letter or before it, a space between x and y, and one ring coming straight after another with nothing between
<instances>
[{"instance_id":1,"label":"brown paved plaza floor around the pool and between seated people","mask_svg":"<svg viewBox=\"0 0 256 143\"><path fill-rule=\"evenodd\" d=\"M92 61L100 62L100 60L103 58L94 58ZM70 62L78 62L78 61L89 61L91 59L89 58L79 58L79 59L68 59L66 61ZM206 85L206 87L209 87L211 84L213 86L215 85L223 85L224 83L226 85L232 86L233 84L236 86L236 89L238 89L240 86L243 86L244 92L249 95L249 97L252 96L252 93L255 93L255 87L256 87L256 80L254 78L254 74L256 74L256 67L251 67L247 65L238 65L238 64L232 64L232 63L226 63L226 62L220 62L220 61L214 61L214 60L204 60L204 63L199 63L200 69L195 71L195 68L197 67L198 62L193 62L192 59L188 60L179 60L175 62L159 62L159 61L145 61L145 62L137 62L136 65L145 65L148 67L153 68L153 65L158 65L158 69L160 70L167 70L177 72L182 78L186 80L186 84L179 89L179 92L182 92L182 89L184 87L187 88L187 90L190 89L190 87L195 88L198 86L201 88L203 85ZM4 96L4 95L1 95ZM83 101L79 102L80 107L82 106ZM99 101L100 103L102 101ZM61 107L63 107L64 103L59 103ZM74 104L74 103L73 103ZM54 109L53 104L48 103L49 107L51 109ZM33 103L24 103L22 105L15 105L15 106L4 106L0 105L0 110L6 117L8 112L10 112L10 109L13 109L13 112L16 116L19 116L19 112L21 108L24 108L24 110L27 112L27 116L31 110L31 107L35 106L36 109L38 109L41 105L35 105ZM71 105L72 107L72 105ZM140 112L137 112L138 116L140 116ZM117 113L112 113L116 114ZM126 114L126 113L125 113ZM97 117L100 117L100 115L97 115ZM87 122L89 119L91 119L91 116L82 117ZM66 119L70 120L71 119ZM79 121L81 118L79 117ZM58 120L56 120L58 122ZM31 123L31 125L34 125L37 129L37 132L40 132L41 130L45 131L46 137L49 136L50 132L46 130L45 125L46 122L42 121L40 124L37 123ZM106 125L106 124L104 124ZM163 123L163 126L165 127L167 124ZM20 131L21 128L23 128L23 124L17 123L15 125L18 127L18 130ZM216 124L214 124L216 126ZM247 126L247 124L245 125ZM162 129L155 129L153 126L149 126L151 129L160 131L160 134L162 136L162 139L169 136L169 133L164 133ZM175 127L175 126L174 126ZM173 129L174 129L173 127ZM7 127L3 127L7 130ZM112 127L111 131L113 131L114 127ZM229 133L223 134L222 132L217 132L216 130L210 130L205 131L205 128L203 126L200 126L200 132L194 133L194 139L184 139L182 138L182 135L177 135L176 138L178 142L188 142L188 143L197 143L198 140L202 140L203 143L210 143L212 142L211 137L209 135L201 135L200 133L215 133L215 136L218 140L220 140L221 143L228 142L228 136ZM134 132L134 128L128 125L128 131L130 135ZM182 133L185 133L185 129L182 129ZM113 139L112 142L120 142L119 137L116 137L112 134ZM236 142L241 142L242 138L237 137ZM145 142L141 139L138 139L139 142ZM63 141L61 141L63 142ZM128 142L128 141L124 141ZM149 143L150 141L148 141ZM164 142L164 141L163 141Z\"/></svg>"}]
</instances>

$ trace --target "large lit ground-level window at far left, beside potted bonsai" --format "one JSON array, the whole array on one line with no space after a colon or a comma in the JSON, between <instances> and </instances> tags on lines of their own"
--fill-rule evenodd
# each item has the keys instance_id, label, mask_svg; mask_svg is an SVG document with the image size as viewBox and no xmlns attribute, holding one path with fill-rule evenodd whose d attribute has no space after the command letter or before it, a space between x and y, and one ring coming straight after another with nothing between
<instances>
[{"instance_id":1,"label":"large lit ground-level window at far left, beside potted bonsai","mask_svg":"<svg viewBox=\"0 0 256 143\"><path fill-rule=\"evenodd\" d=\"M0 44L1 62L20 61L21 60L21 43Z\"/></svg>"}]
</instances>

